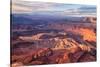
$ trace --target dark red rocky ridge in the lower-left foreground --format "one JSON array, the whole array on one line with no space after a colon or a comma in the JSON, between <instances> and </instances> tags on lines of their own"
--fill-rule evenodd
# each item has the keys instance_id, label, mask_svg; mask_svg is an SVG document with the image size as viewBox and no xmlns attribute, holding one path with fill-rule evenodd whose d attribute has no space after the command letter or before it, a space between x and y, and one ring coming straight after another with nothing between
<instances>
[{"instance_id":1,"label":"dark red rocky ridge in the lower-left foreground","mask_svg":"<svg viewBox=\"0 0 100 67\"><path fill-rule=\"evenodd\" d=\"M32 61L36 61L36 59L47 57L52 55L52 50L50 48L41 48L36 51L30 51L25 55L14 55L12 56L12 63L21 62L22 64L29 64Z\"/></svg>"}]
</instances>

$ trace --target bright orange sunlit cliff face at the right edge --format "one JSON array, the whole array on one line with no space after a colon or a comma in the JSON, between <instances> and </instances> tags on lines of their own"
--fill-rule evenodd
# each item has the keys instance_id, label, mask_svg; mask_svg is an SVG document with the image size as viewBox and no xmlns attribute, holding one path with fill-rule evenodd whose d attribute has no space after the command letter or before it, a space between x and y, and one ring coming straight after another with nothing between
<instances>
[{"instance_id":1,"label":"bright orange sunlit cliff face at the right edge","mask_svg":"<svg viewBox=\"0 0 100 67\"><path fill-rule=\"evenodd\" d=\"M78 34L82 36L83 40L96 42L96 33L94 32L94 29L78 28L78 29L69 30L69 31L73 32L74 34Z\"/></svg>"}]
</instances>

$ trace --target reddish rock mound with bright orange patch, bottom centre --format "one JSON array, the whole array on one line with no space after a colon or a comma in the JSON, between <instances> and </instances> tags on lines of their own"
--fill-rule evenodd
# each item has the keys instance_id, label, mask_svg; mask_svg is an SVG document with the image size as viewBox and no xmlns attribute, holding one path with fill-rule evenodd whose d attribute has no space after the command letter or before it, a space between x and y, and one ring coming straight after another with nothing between
<instances>
[{"instance_id":1,"label":"reddish rock mound with bright orange patch, bottom centre","mask_svg":"<svg viewBox=\"0 0 100 67\"><path fill-rule=\"evenodd\" d=\"M48 57L48 60L50 64L55 64L55 63L60 64L60 63L70 62L66 49L55 50L53 55Z\"/></svg>"}]
</instances>

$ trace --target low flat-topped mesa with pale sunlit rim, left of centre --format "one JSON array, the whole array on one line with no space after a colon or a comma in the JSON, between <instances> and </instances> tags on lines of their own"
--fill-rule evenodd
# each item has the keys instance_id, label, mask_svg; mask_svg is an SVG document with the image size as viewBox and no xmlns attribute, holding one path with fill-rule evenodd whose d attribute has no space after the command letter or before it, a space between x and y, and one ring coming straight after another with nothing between
<instances>
[{"instance_id":1,"label":"low flat-topped mesa with pale sunlit rim, left of centre","mask_svg":"<svg viewBox=\"0 0 100 67\"><path fill-rule=\"evenodd\" d=\"M39 33L33 36L19 36L19 39L25 41L33 41L33 40L41 40L41 39L52 39L54 37L66 36L65 32L58 32L58 33Z\"/></svg>"}]
</instances>

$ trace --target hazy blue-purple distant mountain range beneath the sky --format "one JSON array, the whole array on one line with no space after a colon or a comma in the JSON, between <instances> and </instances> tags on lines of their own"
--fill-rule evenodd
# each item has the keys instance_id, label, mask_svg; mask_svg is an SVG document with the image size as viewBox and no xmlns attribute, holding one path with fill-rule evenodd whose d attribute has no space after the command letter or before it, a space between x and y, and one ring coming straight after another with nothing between
<instances>
[{"instance_id":1,"label":"hazy blue-purple distant mountain range beneath the sky","mask_svg":"<svg viewBox=\"0 0 100 67\"><path fill-rule=\"evenodd\" d=\"M48 24L59 22L78 22L84 17L61 16L59 14L11 14L12 24Z\"/></svg>"}]
</instances>

